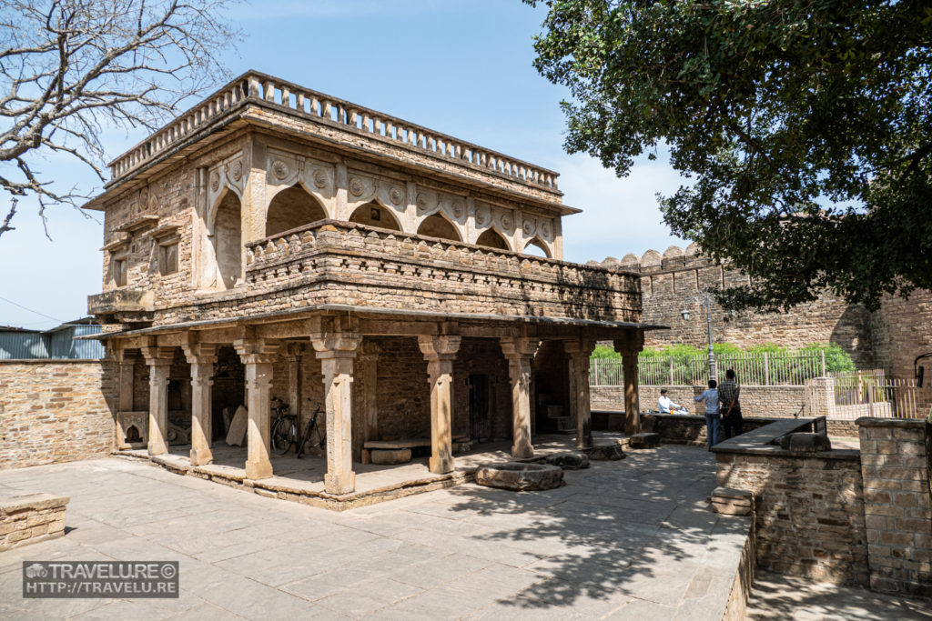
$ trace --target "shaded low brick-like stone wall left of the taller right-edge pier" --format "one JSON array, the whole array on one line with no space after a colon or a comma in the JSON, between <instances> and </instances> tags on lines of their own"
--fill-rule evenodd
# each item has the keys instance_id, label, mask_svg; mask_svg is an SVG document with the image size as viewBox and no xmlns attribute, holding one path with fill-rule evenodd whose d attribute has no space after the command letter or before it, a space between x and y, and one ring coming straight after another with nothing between
<instances>
[{"instance_id":1,"label":"shaded low brick-like stone wall left of the taller right-edge pier","mask_svg":"<svg viewBox=\"0 0 932 621\"><path fill-rule=\"evenodd\" d=\"M719 452L716 458L721 487L755 495L760 567L814 580L868 584L857 452Z\"/></svg>"}]
</instances>

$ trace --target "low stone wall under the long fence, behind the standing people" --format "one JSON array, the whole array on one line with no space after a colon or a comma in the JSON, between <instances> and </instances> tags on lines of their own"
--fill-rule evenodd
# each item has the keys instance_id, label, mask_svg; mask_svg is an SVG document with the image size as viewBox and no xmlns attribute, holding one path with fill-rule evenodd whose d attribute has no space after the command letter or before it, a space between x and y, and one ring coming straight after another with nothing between
<instances>
[{"instance_id":1,"label":"low stone wall under the long fence, behind the standing people","mask_svg":"<svg viewBox=\"0 0 932 621\"><path fill-rule=\"evenodd\" d=\"M657 409L660 389L669 390L669 397L685 405L692 414L705 414L702 403L692 400L701 395L706 386L638 386L641 410ZM590 403L593 410L624 410L624 386L590 386ZM804 386L741 386L741 410L746 417L804 416Z\"/></svg>"}]
</instances>

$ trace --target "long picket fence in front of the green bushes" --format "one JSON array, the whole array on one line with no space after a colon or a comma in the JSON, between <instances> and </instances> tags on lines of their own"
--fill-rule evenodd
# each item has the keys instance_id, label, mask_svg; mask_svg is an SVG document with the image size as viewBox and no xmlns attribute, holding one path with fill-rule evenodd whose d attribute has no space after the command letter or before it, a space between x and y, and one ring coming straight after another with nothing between
<instances>
[{"instance_id":1,"label":"long picket fence in front of the green bushes","mask_svg":"<svg viewBox=\"0 0 932 621\"><path fill-rule=\"evenodd\" d=\"M825 375L825 355L816 353L725 354L716 356L719 379L733 369L742 385L803 385L806 380ZM706 385L708 357L642 356L637 358L640 385ZM589 384L624 385L622 360L594 358L589 366Z\"/></svg>"}]
</instances>

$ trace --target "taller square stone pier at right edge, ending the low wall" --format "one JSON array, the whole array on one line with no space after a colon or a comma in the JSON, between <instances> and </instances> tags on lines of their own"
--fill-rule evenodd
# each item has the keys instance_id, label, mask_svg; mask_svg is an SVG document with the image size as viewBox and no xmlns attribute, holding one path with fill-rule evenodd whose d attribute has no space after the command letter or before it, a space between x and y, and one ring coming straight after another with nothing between
<instances>
[{"instance_id":1,"label":"taller square stone pier at right edge, ending the low wall","mask_svg":"<svg viewBox=\"0 0 932 621\"><path fill-rule=\"evenodd\" d=\"M932 425L861 418L870 588L932 597Z\"/></svg>"}]
</instances>

